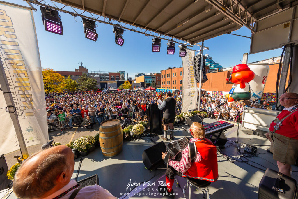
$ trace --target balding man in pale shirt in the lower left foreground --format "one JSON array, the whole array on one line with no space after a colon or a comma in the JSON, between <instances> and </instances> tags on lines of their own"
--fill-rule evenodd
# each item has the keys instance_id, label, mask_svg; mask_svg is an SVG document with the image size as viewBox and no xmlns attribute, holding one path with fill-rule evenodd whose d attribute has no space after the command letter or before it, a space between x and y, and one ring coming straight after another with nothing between
<instances>
[{"instance_id":1,"label":"balding man in pale shirt in the lower left foreground","mask_svg":"<svg viewBox=\"0 0 298 199\"><path fill-rule=\"evenodd\" d=\"M68 199L78 189L75 198L116 199L99 185L80 188L75 180L71 180L74 168L74 154L68 146L54 146L37 152L15 173L13 191L21 199Z\"/></svg>"}]
</instances>

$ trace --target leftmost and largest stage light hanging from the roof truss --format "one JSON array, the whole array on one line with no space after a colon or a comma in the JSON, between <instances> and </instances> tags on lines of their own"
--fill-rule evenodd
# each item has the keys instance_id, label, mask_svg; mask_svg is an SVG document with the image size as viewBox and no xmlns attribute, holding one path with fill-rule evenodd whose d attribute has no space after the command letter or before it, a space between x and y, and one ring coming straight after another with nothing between
<instances>
[{"instance_id":1,"label":"leftmost and largest stage light hanging from the roof truss","mask_svg":"<svg viewBox=\"0 0 298 199\"><path fill-rule=\"evenodd\" d=\"M47 32L63 35L62 22L57 10L40 7L42 22Z\"/></svg>"}]
</instances>

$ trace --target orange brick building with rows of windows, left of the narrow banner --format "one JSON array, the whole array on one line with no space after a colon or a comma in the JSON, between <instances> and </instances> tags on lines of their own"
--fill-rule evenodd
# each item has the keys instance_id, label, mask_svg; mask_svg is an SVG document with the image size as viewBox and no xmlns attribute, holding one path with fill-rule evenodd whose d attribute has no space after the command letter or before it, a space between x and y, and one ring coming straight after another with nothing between
<instances>
[{"instance_id":1,"label":"orange brick building with rows of windows, left of the narrow banner","mask_svg":"<svg viewBox=\"0 0 298 199\"><path fill-rule=\"evenodd\" d=\"M161 88L176 88L182 90L183 67L169 67L161 70Z\"/></svg>"}]
</instances>

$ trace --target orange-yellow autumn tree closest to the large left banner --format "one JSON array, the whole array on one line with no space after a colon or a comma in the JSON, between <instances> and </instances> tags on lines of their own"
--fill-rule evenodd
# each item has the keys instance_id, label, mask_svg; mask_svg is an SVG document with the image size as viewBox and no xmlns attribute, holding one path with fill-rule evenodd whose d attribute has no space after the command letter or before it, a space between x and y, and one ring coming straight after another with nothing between
<instances>
[{"instance_id":1,"label":"orange-yellow autumn tree closest to the large left banner","mask_svg":"<svg viewBox=\"0 0 298 199\"><path fill-rule=\"evenodd\" d=\"M42 78L44 80L44 92L62 92L63 87L61 83L64 77L51 68L42 69Z\"/></svg>"}]
</instances>

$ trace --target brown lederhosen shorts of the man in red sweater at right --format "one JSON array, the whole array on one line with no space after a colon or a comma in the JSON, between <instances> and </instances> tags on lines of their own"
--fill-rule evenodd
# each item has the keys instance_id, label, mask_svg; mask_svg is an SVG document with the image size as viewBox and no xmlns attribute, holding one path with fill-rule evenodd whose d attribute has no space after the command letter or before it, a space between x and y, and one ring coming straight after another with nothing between
<instances>
[{"instance_id":1,"label":"brown lederhosen shorts of the man in red sweater at right","mask_svg":"<svg viewBox=\"0 0 298 199\"><path fill-rule=\"evenodd\" d=\"M298 158L298 140L269 132L273 159L284 164L295 164Z\"/></svg>"}]
</instances>

